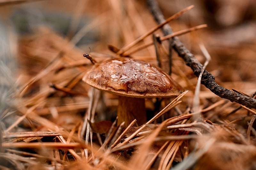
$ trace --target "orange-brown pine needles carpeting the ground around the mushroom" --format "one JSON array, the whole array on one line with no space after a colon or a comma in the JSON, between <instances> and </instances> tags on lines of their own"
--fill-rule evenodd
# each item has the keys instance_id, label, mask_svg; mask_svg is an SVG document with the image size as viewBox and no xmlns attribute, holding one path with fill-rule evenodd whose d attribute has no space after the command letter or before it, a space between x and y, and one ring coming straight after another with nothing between
<instances>
[{"instance_id":1,"label":"orange-brown pine needles carpeting the ground around the mushroom","mask_svg":"<svg viewBox=\"0 0 256 170\"><path fill-rule=\"evenodd\" d=\"M218 97L200 81L197 84L200 77L175 52L172 78L185 92L177 98L147 99L148 122L141 127L133 126L135 121L127 128L117 126L117 96L81 80L92 67L83 53L90 53L97 62L115 57L108 44L115 52L115 47L125 49L156 23L144 2L105 1L97 9L92 8L93 1L64 2L62 10L74 13L67 36L41 25L18 37L15 95L1 113L5 123L1 169L256 169L254 109ZM36 5L61 8L56 5L60 2L47 3ZM4 10L17 7L4 6ZM77 32L79 19L86 13L94 17ZM190 18L191 26L204 23L200 18L193 22L192 14ZM184 20L172 20L170 25L184 30L188 28ZM96 30L99 41L78 47L77 42L91 30ZM154 33L163 40L161 31ZM218 84L253 96L255 42L227 44L217 38L220 35L204 28L180 40L201 63L208 63L206 69ZM170 72L168 43L155 42L156 58L155 47L145 47L149 42L153 42L152 33L124 54L161 63Z\"/></svg>"}]
</instances>

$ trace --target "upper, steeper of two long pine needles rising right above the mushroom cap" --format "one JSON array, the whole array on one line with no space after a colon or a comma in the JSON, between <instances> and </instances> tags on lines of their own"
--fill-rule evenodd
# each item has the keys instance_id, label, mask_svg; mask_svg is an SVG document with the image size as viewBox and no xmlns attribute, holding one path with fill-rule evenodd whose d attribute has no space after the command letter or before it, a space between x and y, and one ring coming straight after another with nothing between
<instances>
[{"instance_id":1,"label":"upper, steeper of two long pine needles rising right above the mushroom cap","mask_svg":"<svg viewBox=\"0 0 256 170\"><path fill-rule=\"evenodd\" d=\"M183 13L189 11L190 9L192 9L194 7L194 5L191 5L183 10L181 10L180 12L172 15L170 18L166 19L163 23L159 24L158 26L152 28L150 31L148 31L147 33L145 33L144 35L141 35L139 38L137 38L135 41L132 41L132 43L128 44L127 46L121 48L117 54L121 55L123 54L125 51L127 51L128 49L132 48L134 45L136 45L138 42L140 42L141 40L143 40L145 37L147 37L148 35L152 34L153 32L155 32L157 29L161 28L162 26L164 26L166 23L172 21L173 19L176 19L178 17L180 17Z\"/></svg>"}]
</instances>

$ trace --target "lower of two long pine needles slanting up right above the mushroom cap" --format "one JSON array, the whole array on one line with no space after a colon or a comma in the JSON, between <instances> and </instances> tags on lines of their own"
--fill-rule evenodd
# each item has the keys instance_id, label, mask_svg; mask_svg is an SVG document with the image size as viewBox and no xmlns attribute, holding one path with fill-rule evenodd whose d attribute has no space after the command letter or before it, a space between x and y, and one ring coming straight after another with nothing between
<instances>
[{"instance_id":1,"label":"lower of two long pine needles slanting up right above the mushroom cap","mask_svg":"<svg viewBox=\"0 0 256 170\"><path fill-rule=\"evenodd\" d=\"M195 26L195 27L192 27L192 28L180 30L180 31L177 31L177 32L175 32L175 33L172 33L172 34L169 34L169 35L160 37L160 41L165 41L165 40L168 40L168 39L170 39L170 38L172 38L172 37L180 36L180 35L183 35L183 34L185 34L185 33L189 33L189 32L192 32L192 31L196 31L196 30L198 30L198 29L205 28L205 27L207 27L207 25L206 25L206 24L202 24L202 25ZM140 50L142 50L142 49L145 49L146 47L151 46L151 45L153 45L153 44L154 44L153 41L148 42L148 43L145 43L145 44L142 44L142 45L140 45L140 46L134 48L134 49L131 50L130 52L127 52L127 54L125 53L124 56L126 56L126 55L131 55L131 54L133 54L133 53L135 53L135 52L137 52L137 51L140 51Z\"/></svg>"}]
</instances>

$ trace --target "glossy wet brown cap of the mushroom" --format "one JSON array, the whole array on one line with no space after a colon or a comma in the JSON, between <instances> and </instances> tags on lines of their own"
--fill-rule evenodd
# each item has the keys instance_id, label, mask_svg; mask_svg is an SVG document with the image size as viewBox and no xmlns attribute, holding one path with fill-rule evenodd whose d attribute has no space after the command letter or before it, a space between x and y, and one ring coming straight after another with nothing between
<instances>
[{"instance_id":1,"label":"glossy wet brown cap of the mushroom","mask_svg":"<svg viewBox=\"0 0 256 170\"><path fill-rule=\"evenodd\" d=\"M183 91L160 68L122 57L96 63L83 77L83 81L103 91L137 98L170 97Z\"/></svg>"}]
</instances>

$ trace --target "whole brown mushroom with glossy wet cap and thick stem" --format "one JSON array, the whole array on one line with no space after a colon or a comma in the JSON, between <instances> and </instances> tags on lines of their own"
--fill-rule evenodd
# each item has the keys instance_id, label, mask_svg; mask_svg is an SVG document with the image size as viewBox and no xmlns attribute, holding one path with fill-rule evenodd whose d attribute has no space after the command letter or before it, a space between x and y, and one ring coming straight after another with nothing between
<instances>
[{"instance_id":1,"label":"whole brown mushroom with glossy wet cap and thick stem","mask_svg":"<svg viewBox=\"0 0 256 170\"><path fill-rule=\"evenodd\" d=\"M127 127L134 119L147 121L145 98L171 97L183 89L160 68L127 57L95 63L83 81L99 90L118 95L117 124Z\"/></svg>"}]
</instances>

